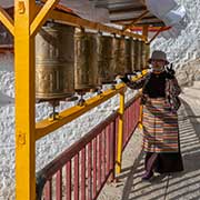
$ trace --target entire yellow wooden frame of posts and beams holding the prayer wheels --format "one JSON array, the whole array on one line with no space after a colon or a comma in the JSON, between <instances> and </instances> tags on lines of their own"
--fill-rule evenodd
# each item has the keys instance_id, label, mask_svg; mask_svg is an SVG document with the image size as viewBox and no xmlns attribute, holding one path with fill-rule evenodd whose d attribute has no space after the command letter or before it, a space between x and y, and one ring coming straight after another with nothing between
<instances>
[{"instance_id":1,"label":"entire yellow wooden frame of posts and beams holding the prayer wheels","mask_svg":"<svg viewBox=\"0 0 200 200\"><path fill-rule=\"evenodd\" d=\"M123 134L124 84L108 90L88 101L83 107L73 107L60 113L60 118L36 124L34 93L34 36L48 18L77 27L133 37L147 41L147 36L134 34L100 23L54 11L59 0L48 0L42 8L34 0L14 0L14 21L0 7L0 21L14 37L16 70L16 199L36 200L36 141L51 131L78 118L113 96L120 93L120 122L117 172L121 171L121 149ZM146 29L147 30L147 29ZM144 31L147 32L147 31Z\"/></svg>"}]
</instances>

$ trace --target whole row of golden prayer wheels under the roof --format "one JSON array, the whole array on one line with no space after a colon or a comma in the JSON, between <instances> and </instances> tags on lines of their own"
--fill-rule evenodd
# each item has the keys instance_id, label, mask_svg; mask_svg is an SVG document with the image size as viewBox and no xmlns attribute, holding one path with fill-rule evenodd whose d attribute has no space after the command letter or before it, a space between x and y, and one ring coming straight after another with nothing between
<instances>
[{"instance_id":1,"label":"whole row of golden prayer wheels under the roof","mask_svg":"<svg viewBox=\"0 0 200 200\"><path fill-rule=\"evenodd\" d=\"M146 68L148 57L143 41L47 22L36 36L37 99L59 100L111 83Z\"/></svg>"}]
</instances>

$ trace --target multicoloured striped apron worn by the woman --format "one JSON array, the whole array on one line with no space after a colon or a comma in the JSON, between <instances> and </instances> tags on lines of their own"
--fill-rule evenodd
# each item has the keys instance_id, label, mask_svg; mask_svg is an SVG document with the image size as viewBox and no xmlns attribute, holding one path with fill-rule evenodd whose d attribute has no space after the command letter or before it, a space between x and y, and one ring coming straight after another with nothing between
<instances>
[{"instance_id":1,"label":"multicoloured striped apron worn by the woman","mask_svg":"<svg viewBox=\"0 0 200 200\"><path fill-rule=\"evenodd\" d=\"M163 98L148 99L143 106L143 150L146 152L179 151L178 116Z\"/></svg>"}]
</instances>

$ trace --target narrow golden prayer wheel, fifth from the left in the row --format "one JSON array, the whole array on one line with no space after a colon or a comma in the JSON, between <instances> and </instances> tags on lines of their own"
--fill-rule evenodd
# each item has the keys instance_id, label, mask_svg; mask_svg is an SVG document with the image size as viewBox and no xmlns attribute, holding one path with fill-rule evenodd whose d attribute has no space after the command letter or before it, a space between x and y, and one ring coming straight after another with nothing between
<instances>
[{"instance_id":1,"label":"narrow golden prayer wheel, fifth from the left in the row","mask_svg":"<svg viewBox=\"0 0 200 200\"><path fill-rule=\"evenodd\" d=\"M132 68L132 44L133 44L133 40L130 39L126 39L126 73L132 73L133 68Z\"/></svg>"}]
</instances>

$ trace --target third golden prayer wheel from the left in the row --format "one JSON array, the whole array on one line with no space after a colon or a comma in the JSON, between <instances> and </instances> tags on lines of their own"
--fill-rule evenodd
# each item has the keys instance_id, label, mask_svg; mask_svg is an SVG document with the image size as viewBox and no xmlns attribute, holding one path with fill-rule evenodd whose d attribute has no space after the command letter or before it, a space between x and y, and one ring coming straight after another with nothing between
<instances>
[{"instance_id":1,"label":"third golden prayer wheel from the left in the row","mask_svg":"<svg viewBox=\"0 0 200 200\"><path fill-rule=\"evenodd\" d=\"M100 52L99 52L99 77L100 82L111 83L114 81L114 38L100 36Z\"/></svg>"}]
</instances>

